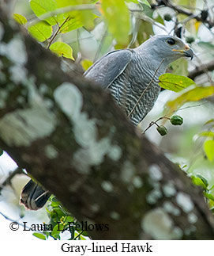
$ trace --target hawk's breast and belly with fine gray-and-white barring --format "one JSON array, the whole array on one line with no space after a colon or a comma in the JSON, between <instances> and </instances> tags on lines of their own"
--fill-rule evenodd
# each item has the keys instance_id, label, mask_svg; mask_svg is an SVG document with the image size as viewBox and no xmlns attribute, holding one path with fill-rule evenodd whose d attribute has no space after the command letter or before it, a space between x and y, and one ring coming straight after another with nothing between
<instances>
[{"instance_id":1,"label":"hawk's breast and belly with fine gray-and-white barring","mask_svg":"<svg viewBox=\"0 0 214 256\"><path fill-rule=\"evenodd\" d=\"M139 101L130 116L130 120L135 125L141 122L155 104L160 94L160 86L157 81L159 76L165 72L164 67L156 71L158 65L151 67L149 63L151 61L147 61L146 56L133 53L132 62L108 88L127 116L130 115L143 94L141 101ZM156 76L154 77L155 73ZM153 82L151 83L151 81ZM149 83L151 84L149 85Z\"/></svg>"}]
</instances>

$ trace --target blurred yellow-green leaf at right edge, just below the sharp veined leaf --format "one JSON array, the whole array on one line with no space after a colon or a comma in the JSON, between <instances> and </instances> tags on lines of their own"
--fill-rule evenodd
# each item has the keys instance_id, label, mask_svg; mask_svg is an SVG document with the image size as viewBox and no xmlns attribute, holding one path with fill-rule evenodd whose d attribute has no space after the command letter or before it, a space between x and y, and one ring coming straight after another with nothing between
<instances>
[{"instance_id":1,"label":"blurred yellow-green leaf at right edge, just below the sharp veined leaf","mask_svg":"<svg viewBox=\"0 0 214 256\"><path fill-rule=\"evenodd\" d=\"M179 109L183 104L189 101L200 101L214 94L214 86L197 86L178 96L173 101L168 101L165 108L165 114L171 116L171 113Z\"/></svg>"}]
</instances>

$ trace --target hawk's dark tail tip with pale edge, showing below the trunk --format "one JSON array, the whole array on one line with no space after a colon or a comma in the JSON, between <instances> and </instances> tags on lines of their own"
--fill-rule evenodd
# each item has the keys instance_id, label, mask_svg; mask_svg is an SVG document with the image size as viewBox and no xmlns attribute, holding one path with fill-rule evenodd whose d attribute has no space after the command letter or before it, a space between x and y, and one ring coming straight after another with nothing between
<instances>
[{"instance_id":1,"label":"hawk's dark tail tip with pale edge, showing below the trunk","mask_svg":"<svg viewBox=\"0 0 214 256\"><path fill-rule=\"evenodd\" d=\"M21 191L21 204L24 204L30 210L36 211L44 206L50 196L49 191L44 190L40 185L30 180Z\"/></svg>"}]
</instances>

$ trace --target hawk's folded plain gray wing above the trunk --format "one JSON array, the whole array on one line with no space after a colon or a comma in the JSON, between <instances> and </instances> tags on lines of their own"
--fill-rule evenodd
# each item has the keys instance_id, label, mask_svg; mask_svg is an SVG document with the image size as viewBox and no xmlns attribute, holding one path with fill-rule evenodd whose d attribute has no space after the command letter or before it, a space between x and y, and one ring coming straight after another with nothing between
<instances>
[{"instance_id":1,"label":"hawk's folded plain gray wing above the trunk","mask_svg":"<svg viewBox=\"0 0 214 256\"><path fill-rule=\"evenodd\" d=\"M86 78L99 82L106 89L118 78L132 60L132 51L109 52L84 72Z\"/></svg>"}]
</instances>

